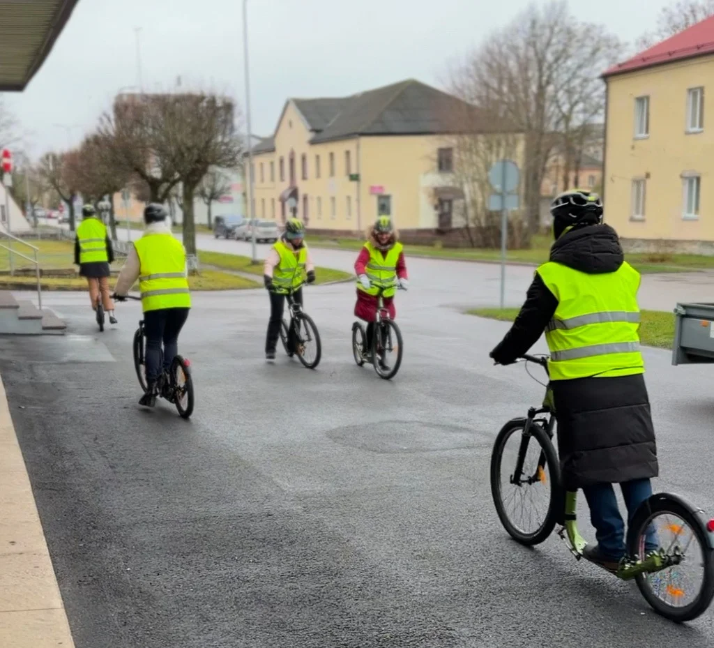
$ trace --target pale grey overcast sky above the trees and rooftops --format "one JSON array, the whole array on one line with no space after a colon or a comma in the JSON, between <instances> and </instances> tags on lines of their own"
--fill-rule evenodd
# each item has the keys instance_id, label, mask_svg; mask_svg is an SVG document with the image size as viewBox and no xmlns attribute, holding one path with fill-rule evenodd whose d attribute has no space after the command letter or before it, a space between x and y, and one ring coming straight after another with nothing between
<instances>
[{"instance_id":1,"label":"pale grey overcast sky above the trees and rooftops","mask_svg":"<svg viewBox=\"0 0 714 648\"><path fill-rule=\"evenodd\" d=\"M529 0L248 0L253 133L289 96L343 96L408 78L440 86L448 62ZM666 0L571 0L575 14L634 41ZM488 9L486 9L488 7ZM32 156L78 144L119 89L203 86L245 102L241 0L80 0L22 94L6 94ZM587 34L583 34L587 37ZM56 126L61 124L62 126Z\"/></svg>"}]
</instances>

